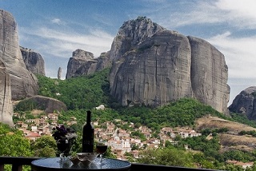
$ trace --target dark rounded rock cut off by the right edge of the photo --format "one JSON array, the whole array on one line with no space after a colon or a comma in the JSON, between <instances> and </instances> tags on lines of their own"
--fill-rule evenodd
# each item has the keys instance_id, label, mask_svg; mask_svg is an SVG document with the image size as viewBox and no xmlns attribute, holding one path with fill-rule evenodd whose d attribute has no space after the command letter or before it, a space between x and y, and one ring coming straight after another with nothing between
<instances>
[{"instance_id":1,"label":"dark rounded rock cut off by the right edge of the photo","mask_svg":"<svg viewBox=\"0 0 256 171\"><path fill-rule=\"evenodd\" d=\"M242 113L250 120L256 120L256 86L242 90L228 109L230 112Z\"/></svg>"}]
</instances>

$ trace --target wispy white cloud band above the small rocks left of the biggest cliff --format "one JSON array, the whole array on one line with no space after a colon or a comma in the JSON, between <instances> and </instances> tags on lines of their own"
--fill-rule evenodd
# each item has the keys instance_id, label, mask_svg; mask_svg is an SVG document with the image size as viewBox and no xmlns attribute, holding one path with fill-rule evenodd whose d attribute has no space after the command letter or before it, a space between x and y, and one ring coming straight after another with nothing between
<instances>
[{"instance_id":1,"label":"wispy white cloud band above the small rocks left of the biggest cliff","mask_svg":"<svg viewBox=\"0 0 256 171\"><path fill-rule=\"evenodd\" d=\"M34 28L28 31L28 28L22 28L22 41L30 41L37 45L40 53L44 52L53 56L70 58L67 52L72 54L74 50L82 49L90 51L94 57L98 57L102 52L110 50L114 37L103 30L90 29L86 34L66 32L64 30L53 30L48 27ZM34 43L33 43L34 42ZM30 48L30 47L29 47Z\"/></svg>"}]
</instances>

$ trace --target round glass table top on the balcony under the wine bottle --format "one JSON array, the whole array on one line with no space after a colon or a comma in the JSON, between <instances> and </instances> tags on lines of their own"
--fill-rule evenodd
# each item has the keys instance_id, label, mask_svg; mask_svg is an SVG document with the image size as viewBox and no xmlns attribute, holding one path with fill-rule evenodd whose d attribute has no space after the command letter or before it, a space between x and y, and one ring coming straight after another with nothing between
<instances>
[{"instance_id":1,"label":"round glass table top on the balcony under the wine bottle","mask_svg":"<svg viewBox=\"0 0 256 171\"><path fill-rule=\"evenodd\" d=\"M69 159L60 162L59 157L42 158L31 162L31 169L33 171L41 170L129 170L130 162L118 159L104 158L103 165L100 164L100 158L97 157L90 165L83 165L79 162L74 165Z\"/></svg>"}]
</instances>

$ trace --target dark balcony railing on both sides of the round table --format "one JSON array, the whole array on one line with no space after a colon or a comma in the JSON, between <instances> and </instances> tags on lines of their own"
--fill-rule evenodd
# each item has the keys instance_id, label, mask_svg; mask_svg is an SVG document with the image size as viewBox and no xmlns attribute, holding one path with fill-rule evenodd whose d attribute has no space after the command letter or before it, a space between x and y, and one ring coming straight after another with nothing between
<instances>
[{"instance_id":1,"label":"dark balcony railing on both sides of the round table","mask_svg":"<svg viewBox=\"0 0 256 171\"><path fill-rule=\"evenodd\" d=\"M40 157L0 157L0 171L4 171L4 165L12 165L12 171L22 171L23 165L31 165L31 161L40 159ZM178 166L167 166L167 165L146 165L132 163L130 171L142 171L142 170L161 170L161 171L193 171L193 170L204 170L210 171L213 169L192 169Z\"/></svg>"}]
</instances>

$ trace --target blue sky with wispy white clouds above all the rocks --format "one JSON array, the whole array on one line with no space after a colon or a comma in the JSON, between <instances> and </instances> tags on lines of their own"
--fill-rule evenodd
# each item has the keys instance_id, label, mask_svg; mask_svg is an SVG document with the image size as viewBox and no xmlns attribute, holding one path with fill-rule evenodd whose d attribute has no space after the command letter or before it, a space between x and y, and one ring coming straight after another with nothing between
<instances>
[{"instance_id":1,"label":"blue sky with wispy white clouds above all the rocks","mask_svg":"<svg viewBox=\"0 0 256 171\"><path fill-rule=\"evenodd\" d=\"M98 58L122 24L139 16L186 36L202 38L225 56L230 105L256 86L255 0L0 0L13 15L19 45L42 55L46 77L62 79L74 50Z\"/></svg>"}]
</instances>

